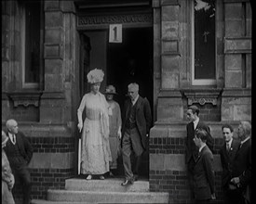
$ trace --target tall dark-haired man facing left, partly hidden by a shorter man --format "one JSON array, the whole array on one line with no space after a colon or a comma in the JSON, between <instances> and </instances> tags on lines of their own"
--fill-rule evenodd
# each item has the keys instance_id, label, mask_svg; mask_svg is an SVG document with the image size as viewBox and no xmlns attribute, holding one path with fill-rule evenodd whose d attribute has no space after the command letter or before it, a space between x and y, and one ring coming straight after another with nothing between
<instances>
[{"instance_id":1,"label":"tall dark-haired man facing left, partly hidden by a shorter man","mask_svg":"<svg viewBox=\"0 0 256 204\"><path fill-rule=\"evenodd\" d=\"M187 137L186 137L186 152L185 152L185 162L187 164L187 171L188 171L188 179L189 185L191 189L191 197L194 198L193 194L193 177L194 177L194 167L195 167L195 160L198 156L198 147L195 146L194 137L195 137L195 130L202 129L207 132L207 146L209 149L213 150L213 139L210 134L209 126L199 119L199 108L195 105L190 106L187 109L187 119L189 123L186 125Z\"/></svg>"}]
</instances>

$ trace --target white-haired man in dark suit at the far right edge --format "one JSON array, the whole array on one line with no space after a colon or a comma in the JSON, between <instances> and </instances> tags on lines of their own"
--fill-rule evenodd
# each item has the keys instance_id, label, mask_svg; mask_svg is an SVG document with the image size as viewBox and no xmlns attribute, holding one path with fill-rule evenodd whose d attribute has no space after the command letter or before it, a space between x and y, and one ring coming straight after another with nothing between
<instances>
[{"instance_id":1,"label":"white-haired man in dark suit at the far right edge","mask_svg":"<svg viewBox=\"0 0 256 204\"><path fill-rule=\"evenodd\" d=\"M234 159L231 183L236 185L237 204L251 203L251 125L249 121L240 121L237 132L241 140Z\"/></svg>"}]
</instances>

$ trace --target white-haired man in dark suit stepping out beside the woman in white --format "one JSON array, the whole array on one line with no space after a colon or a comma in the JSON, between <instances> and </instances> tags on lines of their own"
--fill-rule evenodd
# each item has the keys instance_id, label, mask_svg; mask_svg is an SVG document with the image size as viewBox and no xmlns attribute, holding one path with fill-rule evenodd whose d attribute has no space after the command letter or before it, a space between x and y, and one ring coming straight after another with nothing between
<instances>
[{"instance_id":1,"label":"white-haired man in dark suit stepping out beside the woman in white","mask_svg":"<svg viewBox=\"0 0 256 204\"><path fill-rule=\"evenodd\" d=\"M122 122L122 155L125 181L122 185L133 184L137 180L141 154L146 149L146 140L152 123L149 102L139 95L137 83L128 84L129 99L125 102ZM135 170L132 172L130 155L136 156Z\"/></svg>"}]
</instances>

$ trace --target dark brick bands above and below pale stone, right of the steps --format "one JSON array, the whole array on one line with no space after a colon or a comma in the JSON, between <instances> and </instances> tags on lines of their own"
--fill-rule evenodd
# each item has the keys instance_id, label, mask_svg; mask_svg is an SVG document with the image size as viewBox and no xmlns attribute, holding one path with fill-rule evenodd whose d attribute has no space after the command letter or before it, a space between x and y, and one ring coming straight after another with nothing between
<instances>
[{"instance_id":1,"label":"dark brick bands above and below pale stone, right of the steps","mask_svg":"<svg viewBox=\"0 0 256 204\"><path fill-rule=\"evenodd\" d=\"M222 138L213 138L213 154L219 154ZM150 154L185 154L185 138L150 138ZM170 203L190 203L190 188L187 172L154 171L149 172L150 191L168 192ZM222 203L222 172L215 172L216 200L212 203Z\"/></svg>"}]
</instances>

